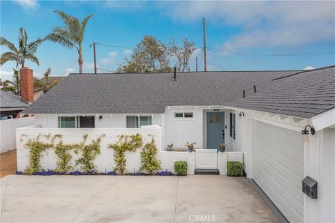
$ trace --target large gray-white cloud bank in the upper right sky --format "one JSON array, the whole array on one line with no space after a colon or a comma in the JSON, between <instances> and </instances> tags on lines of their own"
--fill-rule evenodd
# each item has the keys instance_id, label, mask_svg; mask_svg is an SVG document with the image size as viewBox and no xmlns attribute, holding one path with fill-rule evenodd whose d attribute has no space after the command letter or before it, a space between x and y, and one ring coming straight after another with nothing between
<instances>
[{"instance_id":1,"label":"large gray-white cloud bank in the upper right sky","mask_svg":"<svg viewBox=\"0 0 335 223\"><path fill-rule=\"evenodd\" d=\"M237 27L223 49L334 45L335 1L183 1L161 3L172 20ZM185 13L188 8L188 13Z\"/></svg>"}]
</instances>

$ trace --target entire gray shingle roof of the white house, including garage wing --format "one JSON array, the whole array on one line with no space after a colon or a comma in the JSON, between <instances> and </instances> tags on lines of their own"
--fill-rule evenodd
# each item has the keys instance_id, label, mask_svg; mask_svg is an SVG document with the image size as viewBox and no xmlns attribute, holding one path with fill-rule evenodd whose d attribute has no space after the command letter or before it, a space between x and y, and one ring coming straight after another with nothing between
<instances>
[{"instance_id":1,"label":"entire gray shingle roof of the white house, including garage wing","mask_svg":"<svg viewBox=\"0 0 335 223\"><path fill-rule=\"evenodd\" d=\"M325 100L329 101L331 91L334 90L329 79L334 79L334 67L329 68L331 71L327 72L327 77L322 78L326 82L322 82L322 86L318 87L319 82L315 82L321 79L314 77L315 72L320 76L325 70L327 69L301 73L308 74L302 76L307 78L293 75L297 71L179 72L176 82L173 81L172 73L72 74L22 113L159 114L165 112L166 106L173 105L227 105L310 117L311 114L318 114L332 107ZM273 80L288 75L293 76ZM284 91L276 84L282 82L285 84ZM257 86L258 93L251 93L253 85ZM276 91L272 92L271 86ZM304 90L306 86L313 93L301 95L308 92ZM241 99L244 89L246 98ZM283 102L272 102L278 94L282 95ZM313 94L320 96L311 98ZM257 95L260 96L257 98ZM334 100L329 103L333 103L335 107Z\"/></svg>"}]
</instances>

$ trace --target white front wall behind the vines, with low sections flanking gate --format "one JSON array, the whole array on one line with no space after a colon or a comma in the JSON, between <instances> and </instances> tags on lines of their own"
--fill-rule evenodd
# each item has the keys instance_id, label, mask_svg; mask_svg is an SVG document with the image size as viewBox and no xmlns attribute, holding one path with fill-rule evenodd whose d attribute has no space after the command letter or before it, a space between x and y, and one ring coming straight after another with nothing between
<instances>
[{"instance_id":1,"label":"white front wall behind the vines, with low sections flanking gate","mask_svg":"<svg viewBox=\"0 0 335 223\"><path fill-rule=\"evenodd\" d=\"M64 144L80 143L82 136L88 134L87 143L91 139L96 139L101 134L105 134L105 137L101 140L101 154L96 156L94 163L98 171L112 171L115 167L113 153L114 151L107 148L108 144L115 144L118 141L118 136L121 134L136 134L142 135L144 142L149 142L151 136L154 136L156 146L158 148L158 159L161 160L161 167L163 170L174 172L174 162L176 161L187 161L188 162L188 174L194 174L195 169L195 153L188 152L168 152L162 151L162 130L161 127L157 128L95 128L95 129L59 129L59 128L39 128L37 125L29 126L26 128L17 129L17 170L23 171L29 164L29 151L27 148L23 148L27 139L36 138L38 134L62 134ZM22 136L25 135L25 136ZM40 140L47 141L45 137L40 137ZM58 139L56 139L58 140ZM57 141L55 141L57 143ZM74 166L75 160L78 155L75 153L71 154L72 165ZM55 169L56 162L58 160L57 155L54 154L53 149L49 149L42 154L40 158L40 165L43 169ZM222 175L226 175L226 162L230 160L241 161L243 160L243 153L218 153L218 163ZM140 150L137 149L135 152L126 152L126 169L128 172L138 171L140 168ZM75 167L75 170L78 167Z\"/></svg>"}]
</instances>

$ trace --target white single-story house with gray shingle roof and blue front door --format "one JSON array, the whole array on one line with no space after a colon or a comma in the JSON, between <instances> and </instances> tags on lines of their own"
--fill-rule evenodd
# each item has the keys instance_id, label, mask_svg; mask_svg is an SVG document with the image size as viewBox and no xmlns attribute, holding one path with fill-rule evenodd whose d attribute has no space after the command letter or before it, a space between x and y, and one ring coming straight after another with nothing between
<instances>
[{"instance_id":1,"label":"white single-story house with gray shingle roof and blue front door","mask_svg":"<svg viewBox=\"0 0 335 223\"><path fill-rule=\"evenodd\" d=\"M186 142L195 142L195 153L186 154L191 174L194 169L223 172L223 160L241 153L246 177L288 221L335 222L335 66L70 74L22 114L35 115L36 126L20 130L25 134L75 137L78 132L117 135L159 129L153 134L162 154L177 157L184 153L166 152L165 146L185 148ZM23 162L27 155L17 144L18 161ZM217 152L220 144L227 145L228 155ZM101 153L101 165L103 157L112 160ZM317 199L302 192L306 176L317 183Z\"/></svg>"}]
</instances>

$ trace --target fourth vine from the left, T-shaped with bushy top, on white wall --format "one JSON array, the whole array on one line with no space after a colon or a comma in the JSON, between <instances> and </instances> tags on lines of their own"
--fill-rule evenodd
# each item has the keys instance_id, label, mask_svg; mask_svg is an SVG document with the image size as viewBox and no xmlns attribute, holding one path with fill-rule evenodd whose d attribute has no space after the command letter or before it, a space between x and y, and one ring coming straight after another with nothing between
<instances>
[{"instance_id":1,"label":"fourth vine from the left, T-shaped with bushy top, on white wall","mask_svg":"<svg viewBox=\"0 0 335 223\"><path fill-rule=\"evenodd\" d=\"M114 150L114 162L116 167L114 171L119 174L124 174L126 171L126 157L124 153L126 151L135 152L137 148L141 148L143 145L143 139L140 134L124 135L119 136L119 141L116 144L108 144L108 148Z\"/></svg>"}]
</instances>

